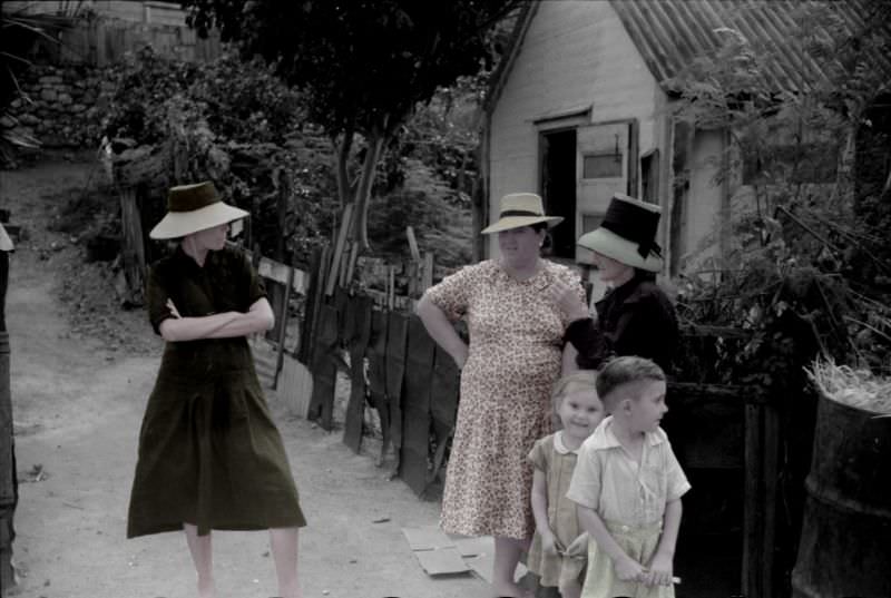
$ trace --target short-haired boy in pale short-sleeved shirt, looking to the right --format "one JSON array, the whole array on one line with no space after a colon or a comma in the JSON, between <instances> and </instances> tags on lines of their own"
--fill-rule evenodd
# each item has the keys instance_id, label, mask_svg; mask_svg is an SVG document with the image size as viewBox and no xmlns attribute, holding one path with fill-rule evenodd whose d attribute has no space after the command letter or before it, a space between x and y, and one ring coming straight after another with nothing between
<instances>
[{"instance_id":1,"label":"short-haired boy in pale short-sleeved shirt, looking to the right","mask_svg":"<svg viewBox=\"0 0 891 598\"><path fill-rule=\"evenodd\" d=\"M673 598L689 483L659 428L668 411L665 374L649 360L616 357L598 374L597 393L610 415L582 444L567 493L594 540L582 596Z\"/></svg>"}]
</instances>

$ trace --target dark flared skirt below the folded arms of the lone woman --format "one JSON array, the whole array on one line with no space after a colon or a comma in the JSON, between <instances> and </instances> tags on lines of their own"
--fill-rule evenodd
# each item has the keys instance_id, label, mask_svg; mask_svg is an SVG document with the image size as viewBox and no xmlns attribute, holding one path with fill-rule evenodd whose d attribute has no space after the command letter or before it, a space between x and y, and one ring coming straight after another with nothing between
<instances>
[{"instance_id":1,"label":"dark flared skirt below the folded arms of the lone woman","mask_svg":"<svg viewBox=\"0 0 891 598\"><path fill-rule=\"evenodd\" d=\"M305 526L253 364L195 374L161 365L139 434L127 537L184 522L199 535Z\"/></svg>"}]
</instances>

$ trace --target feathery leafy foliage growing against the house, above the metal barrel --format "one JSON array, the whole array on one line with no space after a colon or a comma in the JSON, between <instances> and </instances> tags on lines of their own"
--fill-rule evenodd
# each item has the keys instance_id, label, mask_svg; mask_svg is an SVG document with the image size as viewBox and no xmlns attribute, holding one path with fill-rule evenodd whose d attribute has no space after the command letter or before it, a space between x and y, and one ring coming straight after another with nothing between
<instances>
[{"instance_id":1,"label":"feathery leafy foliage growing against the house, above the metal barrel","mask_svg":"<svg viewBox=\"0 0 891 598\"><path fill-rule=\"evenodd\" d=\"M888 12L883 3L873 8ZM721 337L724 349L711 355L717 380L774 391L805 383L797 372L817 354L874 369L891 357L891 287L863 276L864 264L891 273L888 228L875 228L891 220L891 204L859 197L862 177L852 167L860 159L854 136L888 88L881 70L864 65L874 65L888 36L873 35L875 21L850 32L834 10L800 11L802 28L789 43L825 65L825 78L810 89L772 87L763 75L772 52L783 50L752 47L732 30L715 56L699 57L672 81L679 119L728 131L717 178L737 190L726 252L685 273L679 312L691 325L744 332ZM864 47L870 42L879 46ZM881 143L887 159L887 136ZM682 370L695 376L702 366L694 354Z\"/></svg>"}]
</instances>

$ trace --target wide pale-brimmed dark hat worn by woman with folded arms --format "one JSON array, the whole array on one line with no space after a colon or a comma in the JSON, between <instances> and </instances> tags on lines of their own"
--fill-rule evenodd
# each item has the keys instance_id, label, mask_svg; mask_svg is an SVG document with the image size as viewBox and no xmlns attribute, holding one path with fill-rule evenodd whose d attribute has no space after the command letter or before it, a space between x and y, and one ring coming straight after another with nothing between
<instances>
[{"instance_id":1,"label":"wide pale-brimmed dark hat worn by woman with folded arms","mask_svg":"<svg viewBox=\"0 0 891 598\"><path fill-rule=\"evenodd\" d=\"M213 183L172 187L167 214L148 234L151 238L178 238L247 216L244 209L223 203Z\"/></svg>"}]
</instances>

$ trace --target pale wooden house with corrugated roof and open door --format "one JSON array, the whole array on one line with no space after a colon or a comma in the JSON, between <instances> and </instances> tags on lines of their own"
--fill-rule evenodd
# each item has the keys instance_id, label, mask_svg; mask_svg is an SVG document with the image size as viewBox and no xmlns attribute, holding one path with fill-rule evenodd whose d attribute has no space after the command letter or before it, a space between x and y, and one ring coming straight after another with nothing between
<instances>
[{"instance_id":1,"label":"pale wooden house with corrugated roof and open door","mask_svg":"<svg viewBox=\"0 0 891 598\"><path fill-rule=\"evenodd\" d=\"M860 0L843 18L856 23ZM665 274L702 255L708 237L719 251L723 212L740 189L715 182L726 131L692 130L670 116L676 97L665 81L695 56L715 50L718 28L755 43L782 47L795 6L757 0L535 1L518 19L486 107L483 173L487 205L498 213L507 193L532 190L549 214L554 256L589 261L576 239L595 228L613 193L663 208L659 244ZM790 47L766 76L777 90L797 90L820 67ZM887 67L887 65L885 65ZM683 177L683 178L682 178ZM496 255L489 239L484 256Z\"/></svg>"}]
</instances>

